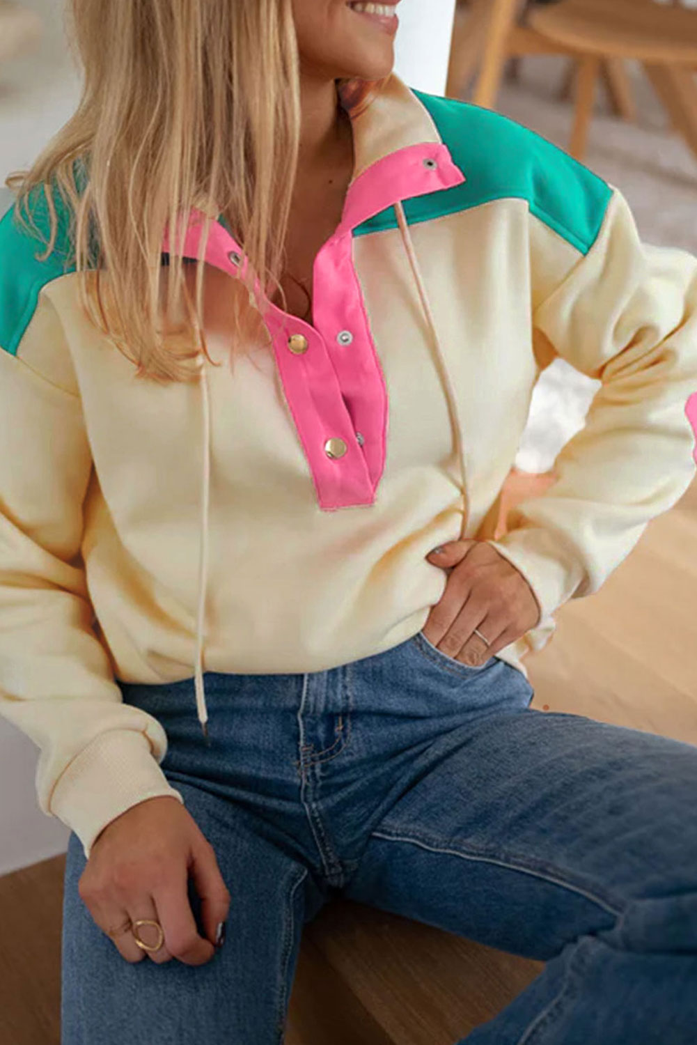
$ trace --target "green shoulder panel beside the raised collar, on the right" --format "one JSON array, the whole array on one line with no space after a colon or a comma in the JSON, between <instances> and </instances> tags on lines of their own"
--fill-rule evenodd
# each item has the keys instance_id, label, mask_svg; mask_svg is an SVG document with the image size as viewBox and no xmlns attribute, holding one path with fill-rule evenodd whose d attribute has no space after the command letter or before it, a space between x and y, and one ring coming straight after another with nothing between
<instances>
[{"instance_id":1,"label":"green shoulder panel beside the raised collar, on the right","mask_svg":"<svg viewBox=\"0 0 697 1045\"><path fill-rule=\"evenodd\" d=\"M587 254L612 189L563 149L515 120L468 101L412 92L427 109L466 181L451 189L404 202L410 224L479 207L492 200L527 200L531 213ZM394 209L381 211L355 235L397 225Z\"/></svg>"}]
</instances>

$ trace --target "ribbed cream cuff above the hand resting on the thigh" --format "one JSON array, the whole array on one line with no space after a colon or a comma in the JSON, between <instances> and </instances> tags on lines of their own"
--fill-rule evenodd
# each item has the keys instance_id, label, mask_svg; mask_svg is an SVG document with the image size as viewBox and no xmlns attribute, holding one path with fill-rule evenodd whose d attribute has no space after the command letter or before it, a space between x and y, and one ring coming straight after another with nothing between
<instances>
[{"instance_id":1,"label":"ribbed cream cuff above the hand resting on the thigh","mask_svg":"<svg viewBox=\"0 0 697 1045\"><path fill-rule=\"evenodd\" d=\"M144 733L108 729L99 734L61 774L49 803L50 815L70 828L89 860L99 832L145 798L169 796L184 805L153 754Z\"/></svg>"}]
</instances>

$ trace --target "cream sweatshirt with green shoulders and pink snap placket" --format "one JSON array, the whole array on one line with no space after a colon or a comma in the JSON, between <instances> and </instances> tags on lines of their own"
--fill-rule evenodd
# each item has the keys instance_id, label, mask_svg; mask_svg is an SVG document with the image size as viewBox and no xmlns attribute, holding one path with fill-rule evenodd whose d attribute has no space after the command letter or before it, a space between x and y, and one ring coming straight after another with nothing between
<instances>
[{"instance_id":1,"label":"cream sweatshirt with green shoulders and pink snap placket","mask_svg":"<svg viewBox=\"0 0 697 1045\"><path fill-rule=\"evenodd\" d=\"M60 237L41 261L13 208L0 222L0 712L40 748L40 808L88 857L137 803L183 802L163 726L119 682L191 678L203 726L206 672L388 650L424 626L447 580L425 556L458 537L535 595L536 625L495 654L527 676L555 611L697 470L697 258L642 242L619 189L494 112L396 74L345 103L355 165L311 322L272 306L273 348L234 371L220 307L206 334L223 366L136 379L78 307ZM202 217L182 215L188 257ZM207 300L246 263L215 219ZM557 481L494 540L557 356L602 385Z\"/></svg>"}]
</instances>

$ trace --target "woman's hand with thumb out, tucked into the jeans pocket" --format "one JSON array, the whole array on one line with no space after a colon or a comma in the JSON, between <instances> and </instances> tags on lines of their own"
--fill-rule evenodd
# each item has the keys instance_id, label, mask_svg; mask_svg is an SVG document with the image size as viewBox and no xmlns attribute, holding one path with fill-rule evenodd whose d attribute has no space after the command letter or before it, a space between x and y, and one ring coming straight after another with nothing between
<instances>
[{"instance_id":1,"label":"woman's hand with thumb out, tucked into the jeans pocket","mask_svg":"<svg viewBox=\"0 0 697 1045\"><path fill-rule=\"evenodd\" d=\"M445 591L422 629L447 656L483 664L538 623L540 608L528 581L486 541L451 540L426 558L449 572Z\"/></svg>"}]
</instances>

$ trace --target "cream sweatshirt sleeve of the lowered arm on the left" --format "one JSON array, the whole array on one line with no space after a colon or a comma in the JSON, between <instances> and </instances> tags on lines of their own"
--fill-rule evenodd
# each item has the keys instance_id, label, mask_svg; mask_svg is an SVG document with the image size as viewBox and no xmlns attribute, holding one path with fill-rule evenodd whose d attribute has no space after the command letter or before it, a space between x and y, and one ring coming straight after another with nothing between
<instances>
[{"instance_id":1,"label":"cream sweatshirt sleeve of the lowered arm on the left","mask_svg":"<svg viewBox=\"0 0 697 1045\"><path fill-rule=\"evenodd\" d=\"M36 245L34 245L36 247ZM0 713L40 748L42 812L79 837L169 795L160 722L124 704L93 629L80 556L92 458L66 339L42 291L0 293ZM1 288L0 288L1 289ZM11 292L11 293L10 293ZM19 295L19 299L18 299ZM42 364L50 361L49 366Z\"/></svg>"}]
</instances>

